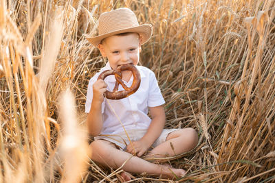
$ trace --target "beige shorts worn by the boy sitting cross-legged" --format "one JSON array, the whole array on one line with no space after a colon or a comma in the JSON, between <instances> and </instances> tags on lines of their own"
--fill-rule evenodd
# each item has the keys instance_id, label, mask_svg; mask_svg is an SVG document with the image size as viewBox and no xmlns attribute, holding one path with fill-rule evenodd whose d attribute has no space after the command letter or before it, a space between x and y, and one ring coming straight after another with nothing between
<instances>
[{"instance_id":1,"label":"beige shorts worn by the boy sitting cross-legged","mask_svg":"<svg viewBox=\"0 0 275 183\"><path fill-rule=\"evenodd\" d=\"M174 132L177 129L164 129L162 130L162 134L160 134L159 138L153 143L152 149L157 147L157 145L164 143L168 134ZM147 130L127 130L126 131L131 141L138 141L144 134L146 134ZM127 145L129 145L130 141L125 132L113 135L102 134L95 137L95 140L103 139L114 143L119 149L126 150Z\"/></svg>"}]
</instances>

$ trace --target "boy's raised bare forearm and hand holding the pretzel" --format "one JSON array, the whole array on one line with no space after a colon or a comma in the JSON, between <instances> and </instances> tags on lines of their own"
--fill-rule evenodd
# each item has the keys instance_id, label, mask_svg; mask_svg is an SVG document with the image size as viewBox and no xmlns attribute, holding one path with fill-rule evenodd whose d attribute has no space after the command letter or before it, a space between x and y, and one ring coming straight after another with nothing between
<instances>
[{"instance_id":1,"label":"boy's raised bare forearm and hand holding the pretzel","mask_svg":"<svg viewBox=\"0 0 275 183\"><path fill-rule=\"evenodd\" d=\"M104 100L103 93L107 90L107 84L103 80L98 80L93 85L93 100L91 109L87 116L88 132L92 136L98 136L102 130L102 111L101 105Z\"/></svg>"}]
</instances>

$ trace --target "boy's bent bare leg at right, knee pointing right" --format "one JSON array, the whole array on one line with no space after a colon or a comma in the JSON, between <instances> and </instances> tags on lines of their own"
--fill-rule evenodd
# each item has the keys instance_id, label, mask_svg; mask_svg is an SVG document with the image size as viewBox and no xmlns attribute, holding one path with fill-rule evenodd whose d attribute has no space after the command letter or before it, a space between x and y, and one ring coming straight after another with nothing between
<instances>
[{"instance_id":1,"label":"boy's bent bare leg at right, knee pointing right","mask_svg":"<svg viewBox=\"0 0 275 183\"><path fill-rule=\"evenodd\" d=\"M151 155L155 158L164 157L167 154L169 156L175 156L187 151L190 151L196 147L198 143L197 132L192 128L179 129L171 132L166 141L152 151L148 152L148 156ZM171 145L172 144L172 145Z\"/></svg>"}]
</instances>

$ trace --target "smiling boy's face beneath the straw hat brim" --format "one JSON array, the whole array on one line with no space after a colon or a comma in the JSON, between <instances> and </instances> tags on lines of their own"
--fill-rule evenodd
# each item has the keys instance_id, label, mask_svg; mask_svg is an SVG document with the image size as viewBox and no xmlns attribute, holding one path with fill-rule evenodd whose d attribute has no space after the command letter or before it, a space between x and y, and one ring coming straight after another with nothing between
<instances>
[{"instance_id":1,"label":"smiling boy's face beneath the straw hat brim","mask_svg":"<svg viewBox=\"0 0 275 183\"><path fill-rule=\"evenodd\" d=\"M138 34L110 36L98 45L103 57L107 57L112 69L119 65L132 63L137 65L140 60L140 39Z\"/></svg>"}]
</instances>

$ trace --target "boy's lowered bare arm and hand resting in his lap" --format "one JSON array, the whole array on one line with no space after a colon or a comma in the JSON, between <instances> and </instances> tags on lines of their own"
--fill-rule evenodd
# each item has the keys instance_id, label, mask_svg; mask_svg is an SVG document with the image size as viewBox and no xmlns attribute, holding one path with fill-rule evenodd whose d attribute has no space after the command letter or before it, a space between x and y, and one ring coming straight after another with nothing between
<instances>
[{"instance_id":1,"label":"boy's lowered bare arm and hand resting in his lap","mask_svg":"<svg viewBox=\"0 0 275 183\"><path fill-rule=\"evenodd\" d=\"M140 141L133 142L132 145L127 146L127 151L131 154L137 154L142 156L151 145L157 140L162 133L165 124L165 111L163 106L157 106L149 108L151 112L152 121L148 127L146 134L140 139Z\"/></svg>"}]
</instances>

